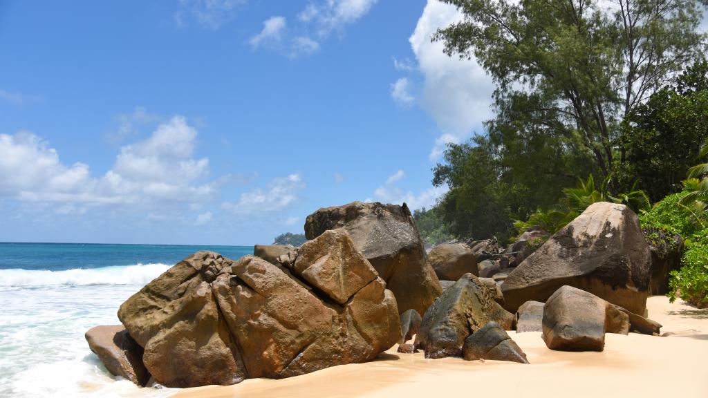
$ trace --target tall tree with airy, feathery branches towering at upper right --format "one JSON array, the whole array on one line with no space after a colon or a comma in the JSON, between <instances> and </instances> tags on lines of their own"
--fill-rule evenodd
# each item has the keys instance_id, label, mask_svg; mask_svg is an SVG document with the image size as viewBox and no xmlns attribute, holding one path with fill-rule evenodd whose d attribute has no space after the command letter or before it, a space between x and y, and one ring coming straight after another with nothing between
<instances>
[{"instance_id":1,"label":"tall tree with airy, feathery branches towering at upper right","mask_svg":"<svg viewBox=\"0 0 708 398\"><path fill-rule=\"evenodd\" d=\"M619 124L705 50L706 0L443 0L464 19L433 40L496 82L487 130L547 135L603 178L625 154Z\"/></svg>"}]
</instances>

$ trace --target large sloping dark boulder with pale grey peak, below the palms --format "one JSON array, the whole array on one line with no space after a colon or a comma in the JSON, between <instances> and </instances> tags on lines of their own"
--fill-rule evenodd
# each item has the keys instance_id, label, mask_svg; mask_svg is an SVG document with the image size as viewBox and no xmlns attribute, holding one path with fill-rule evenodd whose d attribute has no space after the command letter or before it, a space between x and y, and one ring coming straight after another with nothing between
<instances>
[{"instance_id":1,"label":"large sloping dark boulder with pale grey peak, below the palms","mask_svg":"<svg viewBox=\"0 0 708 398\"><path fill-rule=\"evenodd\" d=\"M629 207L593 203L523 261L501 285L505 307L546 301L571 285L644 314L651 255Z\"/></svg>"}]
</instances>

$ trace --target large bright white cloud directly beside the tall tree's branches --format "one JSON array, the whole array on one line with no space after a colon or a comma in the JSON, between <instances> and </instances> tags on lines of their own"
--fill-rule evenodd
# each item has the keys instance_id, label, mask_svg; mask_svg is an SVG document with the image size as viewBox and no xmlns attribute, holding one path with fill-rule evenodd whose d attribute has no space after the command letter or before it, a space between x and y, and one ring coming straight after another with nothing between
<instances>
[{"instance_id":1,"label":"large bright white cloud directly beside the tall tree's branches","mask_svg":"<svg viewBox=\"0 0 708 398\"><path fill-rule=\"evenodd\" d=\"M428 0L416 30L409 38L424 78L418 102L442 131L430 153L432 160L440 157L447 142L464 140L474 127L492 115L490 106L494 86L491 77L474 58L448 57L442 52L442 42L430 42L435 30L462 18L455 6Z\"/></svg>"}]
</instances>

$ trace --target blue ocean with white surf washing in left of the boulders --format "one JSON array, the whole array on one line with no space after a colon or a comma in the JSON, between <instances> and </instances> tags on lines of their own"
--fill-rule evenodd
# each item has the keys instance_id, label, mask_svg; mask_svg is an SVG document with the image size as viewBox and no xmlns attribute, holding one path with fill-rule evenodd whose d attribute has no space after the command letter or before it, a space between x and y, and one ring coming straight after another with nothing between
<instances>
[{"instance_id":1,"label":"blue ocean with white surf washing in left of the boulders","mask_svg":"<svg viewBox=\"0 0 708 398\"><path fill-rule=\"evenodd\" d=\"M0 397L165 397L113 377L84 333L199 250L236 259L253 246L0 243Z\"/></svg>"}]
</instances>

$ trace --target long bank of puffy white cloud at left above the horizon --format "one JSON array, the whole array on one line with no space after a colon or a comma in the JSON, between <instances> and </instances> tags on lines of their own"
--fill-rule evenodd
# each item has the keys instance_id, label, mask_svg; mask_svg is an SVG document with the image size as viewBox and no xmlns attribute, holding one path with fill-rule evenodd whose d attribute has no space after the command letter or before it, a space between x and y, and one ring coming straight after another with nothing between
<instances>
[{"instance_id":1,"label":"long bank of puffy white cloud at left above the horizon","mask_svg":"<svg viewBox=\"0 0 708 398\"><path fill-rule=\"evenodd\" d=\"M208 159L193 158L196 136L185 118L175 116L147 140L122 147L113 168L94 177L87 164L62 163L57 150L38 135L0 134L0 195L88 205L207 198L213 186L195 184L209 166Z\"/></svg>"}]
</instances>

